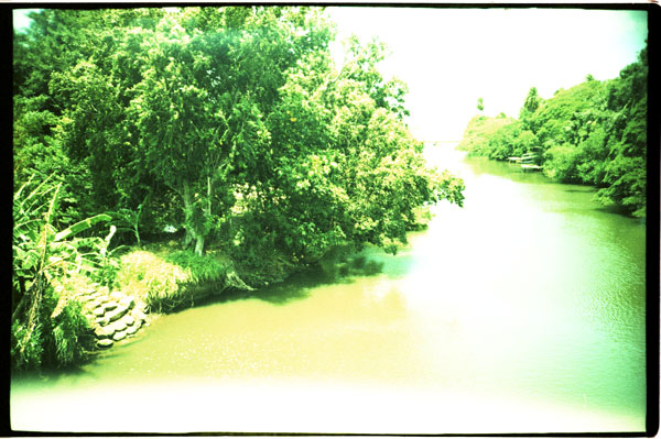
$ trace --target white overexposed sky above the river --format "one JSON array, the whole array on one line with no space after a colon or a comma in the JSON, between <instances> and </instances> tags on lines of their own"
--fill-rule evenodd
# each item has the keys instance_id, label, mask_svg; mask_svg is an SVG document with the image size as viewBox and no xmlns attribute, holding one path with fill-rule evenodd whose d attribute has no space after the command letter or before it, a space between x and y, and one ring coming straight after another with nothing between
<instances>
[{"instance_id":1,"label":"white overexposed sky above the river","mask_svg":"<svg viewBox=\"0 0 661 439\"><path fill-rule=\"evenodd\" d=\"M459 140L484 98L485 113L518 117L530 87L611 79L637 59L646 11L335 7L337 41L378 37L392 51L381 64L409 86L408 123L420 140Z\"/></svg>"}]
</instances>

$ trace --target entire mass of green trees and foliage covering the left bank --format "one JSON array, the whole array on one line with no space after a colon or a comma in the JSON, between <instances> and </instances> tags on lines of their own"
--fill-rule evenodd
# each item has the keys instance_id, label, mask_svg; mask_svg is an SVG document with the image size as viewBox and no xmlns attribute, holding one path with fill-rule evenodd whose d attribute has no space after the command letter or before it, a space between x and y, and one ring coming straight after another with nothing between
<instances>
[{"instance_id":1,"label":"entire mass of green trees and foliage covering the left bank","mask_svg":"<svg viewBox=\"0 0 661 439\"><path fill-rule=\"evenodd\" d=\"M407 88L377 69L384 47L354 39L335 66L321 8L50 9L31 18L13 40L14 210L30 178L46 182L57 202L31 222L32 234L14 229L13 309L41 300L35 290L51 292L53 279L67 284L58 272L37 289L24 286L50 273L57 239L39 237L55 233L55 217L97 245L96 271L78 274L108 286L140 277L139 253L110 257L112 234L75 226L88 218L138 246L182 231L184 249L218 250L259 285L338 246L395 252L421 208L462 204L463 182L426 168L403 123ZM142 256L136 263L150 266ZM62 257L77 261L73 250ZM181 283L227 275L223 264L186 257L151 264L169 273L154 283L172 285L136 290L158 309ZM44 304L32 308L48 314ZM36 330L32 315L14 314L17 334Z\"/></svg>"}]
</instances>

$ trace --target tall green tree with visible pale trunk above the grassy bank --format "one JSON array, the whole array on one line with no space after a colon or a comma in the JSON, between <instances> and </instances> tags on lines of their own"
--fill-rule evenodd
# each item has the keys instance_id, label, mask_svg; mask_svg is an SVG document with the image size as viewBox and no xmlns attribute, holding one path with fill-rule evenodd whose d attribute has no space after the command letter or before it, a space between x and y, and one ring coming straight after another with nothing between
<instances>
[{"instance_id":1,"label":"tall green tree with visible pale trunk above the grassy bank","mask_svg":"<svg viewBox=\"0 0 661 439\"><path fill-rule=\"evenodd\" d=\"M214 210L216 198L230 199L241 187L250 191L269 172L259 160L270 145L264 120L283 72L296 61L292 54L303 56L324 44L310 40L314 32L295 36L304 12L278 19L275 11L241 15L240 30L205 33L186 31L170 17L145 35L143 45L151 50L131 111L147 165L183 201L196 253L203 252L215 216L226 213Z\"/></svg>"}]
</instances>

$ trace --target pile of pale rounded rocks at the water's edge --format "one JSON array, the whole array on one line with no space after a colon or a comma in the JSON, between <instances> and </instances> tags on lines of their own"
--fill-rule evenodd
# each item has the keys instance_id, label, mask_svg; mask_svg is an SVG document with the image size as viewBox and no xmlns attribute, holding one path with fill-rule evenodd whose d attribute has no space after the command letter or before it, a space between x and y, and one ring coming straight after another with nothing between
<instances>
[{"instance_id":1,"label":"pile of pale rounded rocks at the water's edge","mask_svg":"<svg viewBox=\"0 0 661 439\"><path fill-rule=\"evenodd\" d=\"M121 292L110 293L107 287L99 287L79 294L76 299L83 304L100 348L109 348L149 325L144 304Z\"/></svg>"}]
</instances>

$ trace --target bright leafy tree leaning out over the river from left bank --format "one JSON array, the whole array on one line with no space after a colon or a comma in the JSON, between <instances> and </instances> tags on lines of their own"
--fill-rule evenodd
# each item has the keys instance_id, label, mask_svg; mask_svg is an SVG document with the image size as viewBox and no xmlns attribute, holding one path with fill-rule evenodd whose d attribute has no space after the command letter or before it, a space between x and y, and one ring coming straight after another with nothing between
<instances>
[{"instance_id":1,"label":"bright leafy tree leaning out over the river from left bank","mask_svg":"<svg viewBox=\"0 0 661 439\"><path fill-rule=\"evenodd\" d=\"M240 233L246 251L277 248L294 263L366 243L394 252L414 207L460 204L460 180L429 172L401 121L401 101L376 68L382 46L349 44L355 57L337 69L319 51L288 72L268 118L271 147L262 161L274 172L262 184L270 190L256 186L247 201L259 230Z\"/></svg>"}]
</instances>

